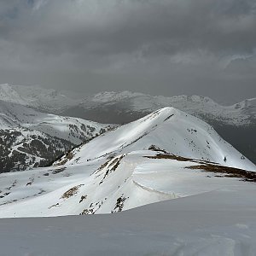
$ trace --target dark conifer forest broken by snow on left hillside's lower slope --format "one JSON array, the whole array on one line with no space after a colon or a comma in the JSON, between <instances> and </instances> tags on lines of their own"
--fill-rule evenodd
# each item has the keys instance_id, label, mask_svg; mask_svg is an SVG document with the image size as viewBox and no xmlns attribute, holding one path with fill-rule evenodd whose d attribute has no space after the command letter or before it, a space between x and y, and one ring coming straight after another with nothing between
<instances>
[{"instance_id":1,"label":"dark conifer forest broken by snow on left hillside's lower slope","mask_svg":"<svg viewBox=\"0 0 256 256\"><path fill-rule=\"evenodd\" d=\"M19 131L16 131L18 130ZM30 135L25 134L29 131ZM44 133L32 134L26 128L0 130L0 172L25 171L49 162L67 152L73 143Z\"/></svg>"}]
</instances>

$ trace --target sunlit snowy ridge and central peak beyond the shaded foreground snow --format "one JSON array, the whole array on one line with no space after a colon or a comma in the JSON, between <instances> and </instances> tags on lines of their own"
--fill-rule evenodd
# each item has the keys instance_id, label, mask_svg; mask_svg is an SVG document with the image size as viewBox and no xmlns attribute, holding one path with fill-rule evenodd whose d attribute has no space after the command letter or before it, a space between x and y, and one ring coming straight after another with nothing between
<instances>
[{"instance_id":1,"label":"sunlit snowy ridge and central peak beyond the shaded foreground snow","mask_svg":"<svg viewBox=\"0 0 256 256\"><path fill-rule=\"evenodd\" d=\"M121 212L256 182L256 166L205 122L163 108L55 166L0 175L0 217Z\"/></svg>"}]
</instances>

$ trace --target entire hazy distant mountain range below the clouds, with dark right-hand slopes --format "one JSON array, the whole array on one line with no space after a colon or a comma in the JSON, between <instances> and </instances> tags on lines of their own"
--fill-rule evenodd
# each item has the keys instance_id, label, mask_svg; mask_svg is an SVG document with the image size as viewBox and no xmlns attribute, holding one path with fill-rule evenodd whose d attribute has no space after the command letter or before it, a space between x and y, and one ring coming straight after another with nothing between
<instances>
[{"instance_id":1,"label":"entire hazy distant mountain range below the clouds, with dark right-hand slopes","mask_svg":"<svg viewBox=\"0 0 256 256\"><path fill-rule=\"evenodd\" d=\"M205 96L149 96L129 91L102 92L81 98L73 99L68 94L38 86L0 85L2 101L99 123L126 124L159 108L177 108L205 120L256 163L256 97L232 106L222 106Z\"/></svg>"}]
</instances>

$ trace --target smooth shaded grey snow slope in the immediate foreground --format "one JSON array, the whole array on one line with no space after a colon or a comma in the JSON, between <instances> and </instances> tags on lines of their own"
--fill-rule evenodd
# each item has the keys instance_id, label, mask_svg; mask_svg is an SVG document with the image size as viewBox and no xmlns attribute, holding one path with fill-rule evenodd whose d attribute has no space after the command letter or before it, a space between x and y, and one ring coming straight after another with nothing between
<instances>
[{"instance_id":1,"label":"smooth shaded grey snow slope in the immediate foreground","mask_svg":"<svg viewBox=\"0 0 256 256\"><path fill-rule=\"evenodd\" d=\"M114 214L0 219L1 255L254 256L255 184Z\"/></svg>"}]
</instances>

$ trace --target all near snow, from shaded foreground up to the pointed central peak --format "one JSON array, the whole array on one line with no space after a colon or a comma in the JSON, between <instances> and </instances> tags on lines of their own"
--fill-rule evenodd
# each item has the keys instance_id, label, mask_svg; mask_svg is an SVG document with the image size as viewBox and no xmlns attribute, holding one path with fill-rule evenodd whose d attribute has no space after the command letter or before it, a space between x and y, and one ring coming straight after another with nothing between
<instances>
[{"instance_id":1,"label":"all near snow, from shaded foreground up to the pointed central peak","mask_svg":"<svg viewBox=\"0 0 256 256\"><path fill-rule=\"evenodd\" d=\"M210 125L163 108L55 166L1 174L1 253L255 255L255 171Z\"/></svg>"}]
</instances>

